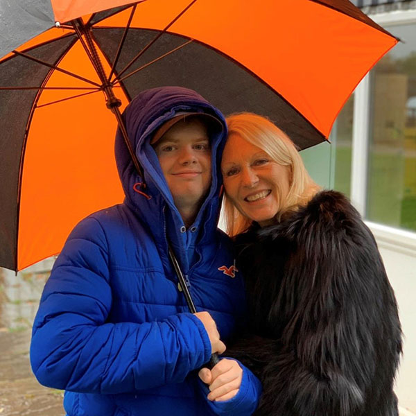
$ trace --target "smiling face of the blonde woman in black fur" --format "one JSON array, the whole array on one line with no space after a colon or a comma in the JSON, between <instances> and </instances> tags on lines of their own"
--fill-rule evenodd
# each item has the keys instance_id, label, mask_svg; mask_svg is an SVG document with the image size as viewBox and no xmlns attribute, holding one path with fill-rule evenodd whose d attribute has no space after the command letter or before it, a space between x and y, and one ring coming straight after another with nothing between
<instances>
[{"instance_id":1,"label":"smiling face of the blonde woman in black fur","mask_svg":"<svg viewBox=\"0 0 416 416\"><path fill-rule=\"evenodd\" d=\"M261 226L274 222L279 198L290 188L290 168L274 162L261 148L232 134L221 162L224 187L236 208Z\"/></svg>"}]
</instances>

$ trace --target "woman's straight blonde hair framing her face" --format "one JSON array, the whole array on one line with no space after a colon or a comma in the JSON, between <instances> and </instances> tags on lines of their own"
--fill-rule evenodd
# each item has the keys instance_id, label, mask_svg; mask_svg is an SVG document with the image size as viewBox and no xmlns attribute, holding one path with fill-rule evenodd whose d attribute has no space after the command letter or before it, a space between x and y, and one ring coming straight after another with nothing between
<instances>
[{"instance_id":1,"label":"woman's straight blonde hair framing her face","mask_svg":"<svg viewBox=\"0 0 416 416\"><path fill-rule=\"evenodd\" d=\"M288 211L305 205L320 188L306 171L302 157L291 139L269 119L258 114L243 112L227 117L228 137L238 135L249 143L261 148L275 162L289 166L291 183L284 200L279 198L276 222ZM232 201L224 196L224 219L227 234L234 236L250 227L252 220L241 214Z\"/></svg>"}]
</instances>

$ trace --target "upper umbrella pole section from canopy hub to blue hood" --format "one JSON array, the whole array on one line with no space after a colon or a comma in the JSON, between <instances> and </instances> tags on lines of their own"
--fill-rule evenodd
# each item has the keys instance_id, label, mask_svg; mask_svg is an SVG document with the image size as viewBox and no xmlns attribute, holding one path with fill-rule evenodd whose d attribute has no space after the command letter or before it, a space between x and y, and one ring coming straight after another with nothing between
<instances>
[{"instance_id":1,"label":"upper umbrella pole section from canopy hub to blue hood","mask_svg":"<svg viewBox=\"0 0 416 416\"><path fill-rule=\"evenodd\" d=\"M114 94L113 87L110 81L105 76L105 71L103 67L103 63L101 62L100 56L98 55L96 44L92 37L92 31L89 26L86 26L83 22L83 19L76 19L71 21L71 24L78 35L78 38L87 53L89 60L91 61L98 78L101 80L101 89L105 94L105 101L107 104L107 108L111 110L111 112L116 116L117 123L119 125L121 134L123 135L123 139L125 142L125 146L128 148L128 153L130 153L130 157L132 159L133 164L135 165L136 171L141 177L142 183L144 184L144 175L143 169L139 164L139 160L135 154L135 151L132 148L132 144L130 139L128 138L128 133L125 128L125 124L123 121L123 117L121 116L121 112L119 107L121 106L121 100L117 98Z\"/></svg>"}]
</instances>

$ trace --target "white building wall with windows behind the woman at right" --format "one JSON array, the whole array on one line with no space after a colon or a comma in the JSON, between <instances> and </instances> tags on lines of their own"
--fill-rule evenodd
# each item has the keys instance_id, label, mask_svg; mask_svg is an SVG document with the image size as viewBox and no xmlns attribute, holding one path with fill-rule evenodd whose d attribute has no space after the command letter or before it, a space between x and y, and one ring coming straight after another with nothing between
<instances>
[{"instance_id":1,"label":"white building wall with windows behind the woman at right","mask_svg":"<svg viewBox=\"0 0 416 416\"><path fill-rule=\"evenodd\" d=\"M318 183L351 198L376 237L404 331L401 415L416 415L416 0L353 3L402 42L356 87L331 145L302 155Z\"/></svg>"}]
</instances>

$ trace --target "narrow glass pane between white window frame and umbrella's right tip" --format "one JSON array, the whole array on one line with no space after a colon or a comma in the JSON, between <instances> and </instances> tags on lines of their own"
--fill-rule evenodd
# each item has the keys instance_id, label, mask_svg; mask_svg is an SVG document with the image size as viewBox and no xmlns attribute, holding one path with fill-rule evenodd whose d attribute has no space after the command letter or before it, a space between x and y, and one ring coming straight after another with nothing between
<instances>
[{"instance_id":1,"label":"narrow glass pane between white window frame and umbrella's right tip","mask_svg":"<svg viewBox=\"0 0 416 416\"><path fill-rule=\"evenodd\" d=\"M350 196L351 185L351 146L352 146L352 115L354 111L354 94L349 97L343 110L333 124L331 131L332 157L334 166L333 189Z\"/></svg>"}]
</instances>

